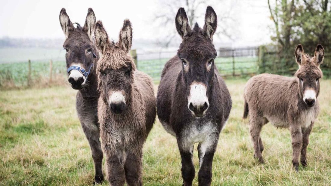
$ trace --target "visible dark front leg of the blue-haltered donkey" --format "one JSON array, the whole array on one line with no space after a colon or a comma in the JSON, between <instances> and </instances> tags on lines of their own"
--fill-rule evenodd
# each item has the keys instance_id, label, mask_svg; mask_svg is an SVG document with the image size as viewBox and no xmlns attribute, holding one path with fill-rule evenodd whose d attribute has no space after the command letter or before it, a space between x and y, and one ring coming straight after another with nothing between
<instances>
[{"instance_id":1,"label":"visible dark front leg of the blue-haltered donkey","mask_svg":"<svg viewBox=\"0 0 331 186\"><path fill-rule=\"evenodd\" d=\"M89 125L82 123L82 128L84 130L85 136L88 140L88 143L91 147L92 158L94 161L95 167L95 177L94 182L97 184L101 184L104 180L104 175L102 173L102 150L100 144L100 130L97 125Z\"/></svg>"}]
</instances>

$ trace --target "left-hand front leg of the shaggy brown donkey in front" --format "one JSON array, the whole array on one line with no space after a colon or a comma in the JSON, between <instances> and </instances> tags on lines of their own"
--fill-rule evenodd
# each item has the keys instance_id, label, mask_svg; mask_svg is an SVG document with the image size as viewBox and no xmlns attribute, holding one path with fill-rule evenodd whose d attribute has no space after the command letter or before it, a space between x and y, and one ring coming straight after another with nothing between
<instances>
[{"instance_id":1,"label":"left-hand front leg of the shaggy brown donkey in front","mask_svg":"<svg viewBox=\"0 0 331 186\"><path fill-rule=\"evenodd\" d=\"M108 145L103 145L103 147L106 154L107 177L110 185L123 186L125 183L125 172L117 150L110 148Z\"/></svg>"}]
</instances>

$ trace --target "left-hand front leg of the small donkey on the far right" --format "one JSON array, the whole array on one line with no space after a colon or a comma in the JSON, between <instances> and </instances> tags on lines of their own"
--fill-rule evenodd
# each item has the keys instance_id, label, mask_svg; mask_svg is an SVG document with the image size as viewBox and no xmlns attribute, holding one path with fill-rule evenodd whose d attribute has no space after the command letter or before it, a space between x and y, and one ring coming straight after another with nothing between
<instances>
[{"instance_id":1,"label":"left-hand front leg of the small donkey on the far right","mask_svg":"<svg viewBox=\"0 0 331 186\"><path fill-rule=\"evenodd\" d=\"M292 163L293 163L293 167L295 167L295 170L299 171L299 155L302 149L301 126L291 124L290 131L291 131L292 149L293 149Z\"/></svg>"}]
</instances>

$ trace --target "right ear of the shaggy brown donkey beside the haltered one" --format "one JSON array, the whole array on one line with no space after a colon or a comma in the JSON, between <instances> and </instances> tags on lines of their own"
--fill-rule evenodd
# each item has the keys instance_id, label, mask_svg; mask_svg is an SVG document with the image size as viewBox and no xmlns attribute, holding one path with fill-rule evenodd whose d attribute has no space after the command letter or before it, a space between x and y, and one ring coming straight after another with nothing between
<instances>
[{"instance_id":1,"label":"right ear of the shaggy brown donkey beside the haltered one","mask_svg":"<svg viewBox=\"0 0 331 186\"><path fill-rule=\"evenodd\" d=\"M123 27L119 32L119 47L121 47L125 52L129 53L132 47L132 26L129 19L125 19L123 22Z\"/></svg>"}]
</instances>

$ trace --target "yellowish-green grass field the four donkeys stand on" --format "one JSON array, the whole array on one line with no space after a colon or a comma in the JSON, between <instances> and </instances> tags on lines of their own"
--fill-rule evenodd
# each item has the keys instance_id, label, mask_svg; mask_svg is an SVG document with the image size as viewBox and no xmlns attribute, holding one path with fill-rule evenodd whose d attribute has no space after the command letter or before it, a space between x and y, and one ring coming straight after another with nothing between
<instances>
[{"instance_id":1,"label":"yellowish-green grass field the four donkeys stand on","mask_svg":"<svg viewBox=\"0 0 331 186\"><path fill-rule=\"evenodd\" d=\"M266 125L261 133L266 164L253 158L248 120L242 120L246 81L226 80L233 109L219 137L212 185L331 185L331 80L321 80L321 111L310 135L308 166L298 173L292 169L289 130ZM93 160L76 115L75 93L70 87L0 92L0 185L92 183ZM158 120L144 146L143 167L144 185L182 183L176 140Z\"/></svg>"}]
</instances>

